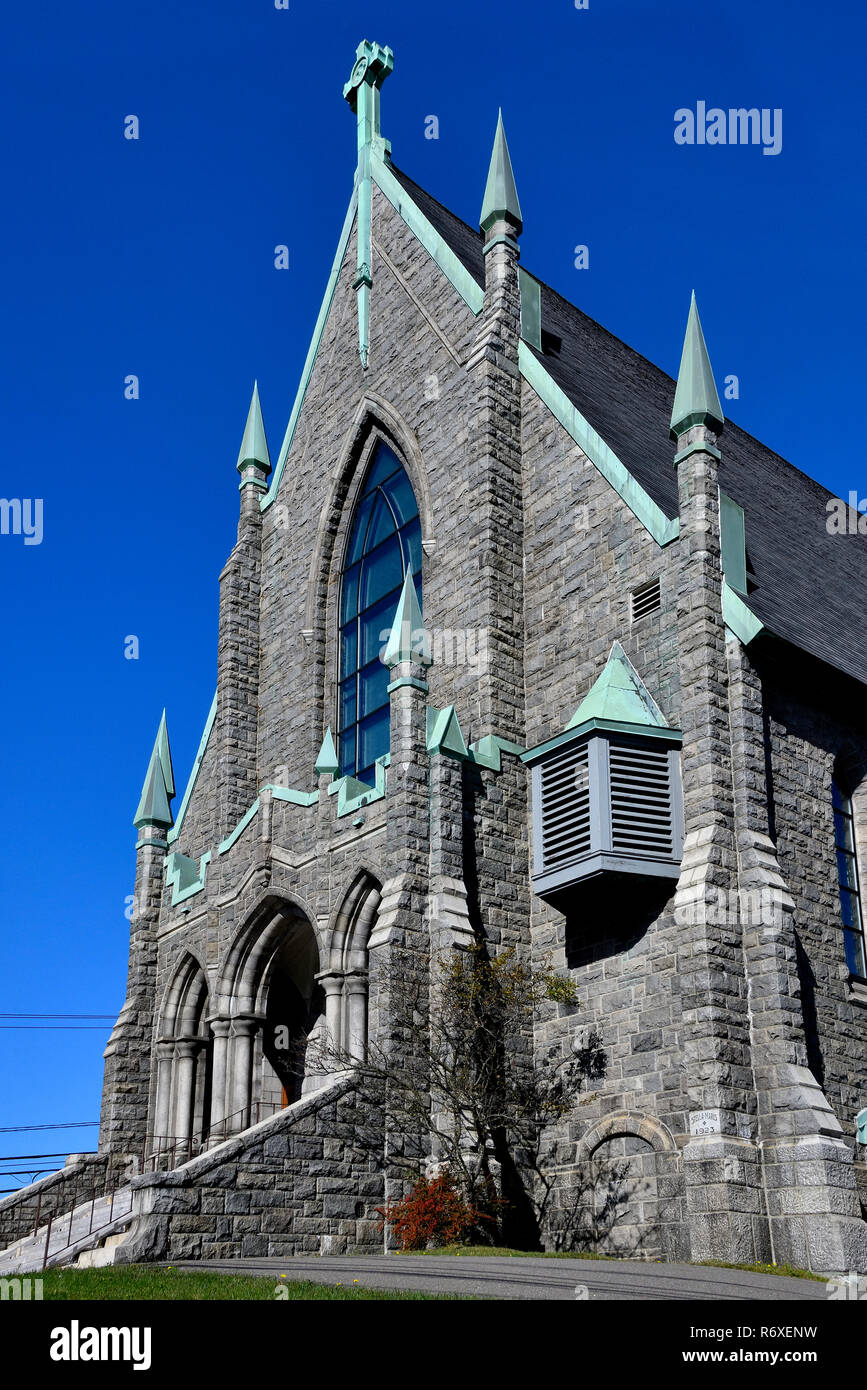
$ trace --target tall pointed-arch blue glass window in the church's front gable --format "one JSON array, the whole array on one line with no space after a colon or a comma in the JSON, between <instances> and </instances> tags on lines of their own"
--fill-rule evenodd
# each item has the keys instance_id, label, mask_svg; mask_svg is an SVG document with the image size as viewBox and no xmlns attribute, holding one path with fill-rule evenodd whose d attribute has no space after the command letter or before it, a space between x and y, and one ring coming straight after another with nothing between
<instances>
[{"instance_id":1,"label":"tall pointed-arch blue glass window in the church's front gable","mask_svg":"<svg viewBox=\"0 0 867 1390\"><path fill-rule=\"evenodd\" d=\"M418 506L400 460L379 443L356 505L340 591L340 776L370 785L377 758L389 751L390 674L379 653L407 570L421 602Z\"/></svg>"}]
</instances>

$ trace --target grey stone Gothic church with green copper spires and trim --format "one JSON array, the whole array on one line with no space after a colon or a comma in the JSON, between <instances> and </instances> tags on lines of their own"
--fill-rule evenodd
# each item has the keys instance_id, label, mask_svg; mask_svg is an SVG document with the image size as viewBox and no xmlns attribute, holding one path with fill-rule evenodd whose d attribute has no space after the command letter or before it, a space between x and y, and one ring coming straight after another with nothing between
<instances>
[{"instance_id":1,"label":"grey stone Gothic church with green copper spires and trim","mask_svg":"<svg viewBox=\"0 0 867 1390\"><path fill-rule=\"evenodd\" d=\"M535 1048L607 1055L545 1241L620 1165L600 1250L867 1270L867 542L725 424L695 297L672 379L522 265L502 118L479 224L413 182L392 67L364 42L343 90L274 457L253 392L192 773L163 719L135 816L122 1258L381 1250L358 1077L276 1029L363 1059L399 948L484 941L577 987Z\"/></svg>"}]
</instances>

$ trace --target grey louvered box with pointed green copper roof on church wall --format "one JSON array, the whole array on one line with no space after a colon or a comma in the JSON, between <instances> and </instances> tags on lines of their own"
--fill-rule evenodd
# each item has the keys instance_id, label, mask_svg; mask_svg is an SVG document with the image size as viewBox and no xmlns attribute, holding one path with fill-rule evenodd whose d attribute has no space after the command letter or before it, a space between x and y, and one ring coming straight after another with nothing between
<instances>
[{"instance_id":1,"label":"grey louvered box with pointed green copper roof on church wall","mask_svg":"<svg viewBox=\"0 0 867 1390\"><path fill-rule=\"evenodd\" d=\"M600 874L679 876L681 737L616 642L564 733L524 753L539 897Z\"/></svg>"}]
</instances>

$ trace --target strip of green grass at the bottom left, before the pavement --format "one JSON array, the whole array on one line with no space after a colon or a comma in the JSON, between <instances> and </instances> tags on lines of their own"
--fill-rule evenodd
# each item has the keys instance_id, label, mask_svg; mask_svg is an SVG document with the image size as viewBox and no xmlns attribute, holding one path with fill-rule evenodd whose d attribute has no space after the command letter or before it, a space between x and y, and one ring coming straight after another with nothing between
<instances>
[{"instance_id":1,"label":"strip of green grass at the bottom left, before the pavement","mask_svg":"<svg viewBox=\"0 0 867 1390\"><path fill-rule=\"evenodd\" d=\"M276 1302L276 1284L288 1290L279 1300L288 1302L356 1302L400 1300L403 1302L463 1302L454 1294L395 1293L388 1289L363 1289L352 1280L340 1284L314 1284L310 1280L281 1279L274 1275L218 1275L210 1270L190 1273L154 1265L108 1265L106 1269L49 1269L42 1276L43 1298L76 1301L231 1301Z\"/></svg>"}]
</instances>

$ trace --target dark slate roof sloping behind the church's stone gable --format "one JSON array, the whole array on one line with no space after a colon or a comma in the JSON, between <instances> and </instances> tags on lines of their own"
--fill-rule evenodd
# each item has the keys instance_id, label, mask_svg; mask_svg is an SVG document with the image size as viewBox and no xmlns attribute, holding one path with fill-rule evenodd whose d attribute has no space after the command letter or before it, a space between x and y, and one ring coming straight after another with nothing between
<instances>
[{"instance_id":1,"label":"dark slate roof sloping behind the church's stone gable","mask_svg":"<svg viewBox=\"0 0 867 1390\"><path fill-rule=\"evenodd\" d=\"M481 232L392 171L484 286ZM636 482L675 517L674 379L540 285L543 350L532 350ZM834 493L731 421L720 448L720 486L745 512L749 607L777 637L867 684L867 537L829 535Z\"/></svg>"}]
</instances>

